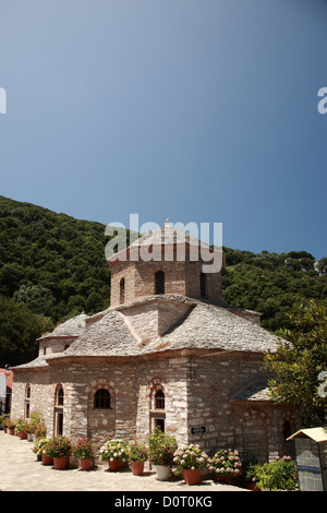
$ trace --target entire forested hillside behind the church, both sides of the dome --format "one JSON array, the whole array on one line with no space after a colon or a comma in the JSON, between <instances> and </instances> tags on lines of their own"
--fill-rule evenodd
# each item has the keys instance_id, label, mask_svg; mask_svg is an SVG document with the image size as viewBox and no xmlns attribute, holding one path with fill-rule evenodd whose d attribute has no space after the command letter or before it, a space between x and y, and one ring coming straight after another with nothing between
<instances>
[{"instance_id":1,"label":"entire forested hillside behind the church, both sides of the dome","mask_svg":"<svg viewBox=\"0 0 327 513\"><path fill-rule=\"evenodd\" d=\"M0 196L0 367L34 358L35 338L58 322L109 306L107 242L100 223ZM225 251L225 301L263 312L263 326L284 326L296 300L327 302L327 275L310 253Z\"/></svg>"}]
</instances>

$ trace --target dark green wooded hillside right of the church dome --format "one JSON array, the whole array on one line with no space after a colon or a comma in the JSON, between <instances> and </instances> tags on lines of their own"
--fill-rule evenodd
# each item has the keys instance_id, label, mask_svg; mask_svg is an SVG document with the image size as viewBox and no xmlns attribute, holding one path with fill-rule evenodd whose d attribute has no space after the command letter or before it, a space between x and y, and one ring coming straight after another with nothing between
<instances>
[{"instance_id":1,"label":"dark green wooded hillside right of the church dome","mask_svg":"<svg viewBox=\"0 0 327 513\"><path fill-rule=\"evenodd\" d=\"M277 332L289 327L287 312L304 299L327 306L327 274L314 271L306 251L261 254L223 248L222 297L226 303L262 312L262 325ZM319 262L326 259L322 259ZM319 265L318 265L319 267Z\"/></svg>"}]
</instances>

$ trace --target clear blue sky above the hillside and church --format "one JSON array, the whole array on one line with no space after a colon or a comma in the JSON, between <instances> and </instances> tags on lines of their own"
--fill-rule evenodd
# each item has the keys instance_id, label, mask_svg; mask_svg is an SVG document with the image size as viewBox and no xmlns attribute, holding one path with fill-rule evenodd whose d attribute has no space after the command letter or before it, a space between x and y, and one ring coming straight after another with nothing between
<instances>
[{"instance_id":1,"label":"clear blue sky above the hillside and church","mask_svg":"<svg viewBox=\"0 0 327 513\"><path fill-rule=\"evenodd\" d=\"M0 0L0 194L326 247L326 0Z\"/></svg>"}]
</instances>

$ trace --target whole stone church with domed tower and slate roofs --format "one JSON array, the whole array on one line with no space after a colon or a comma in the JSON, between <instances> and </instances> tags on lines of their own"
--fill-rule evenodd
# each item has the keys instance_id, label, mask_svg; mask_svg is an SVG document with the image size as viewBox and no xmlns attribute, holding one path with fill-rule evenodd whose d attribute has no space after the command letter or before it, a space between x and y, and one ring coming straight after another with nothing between
<instances>
[{"instance_id":1,"label":"whole stone church with domed tower and slate roofs","mask_svg":"<svg viewBox=\"0 0 327 513\"><path fill-rule=\"evenodd\" d=\"M182 244L183 260L175 258ZM48 437L88 437L98 446L110 438L145 441L159 426L209 454L290 454L286 439L301 427L301 410L269 398L263 368L277 338L259 313L222 302L221 272L203 272L202 246L165 226L124 259L112 255L110 308L38 339L38 357L13 368L12 417L41 411ZM132 258L141 248L170 249L173 258Z\"/></svg>"}]
</instances>

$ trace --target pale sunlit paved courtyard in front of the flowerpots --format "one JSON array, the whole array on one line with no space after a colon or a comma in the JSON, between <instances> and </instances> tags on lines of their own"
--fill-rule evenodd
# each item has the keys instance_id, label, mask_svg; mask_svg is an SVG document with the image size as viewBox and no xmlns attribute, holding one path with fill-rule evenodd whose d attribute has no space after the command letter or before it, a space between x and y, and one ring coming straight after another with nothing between
<instances>
[{"instance_id":1,"label":"pale sunlit paved courtyard in front of the flowerpots","mask_svg":"<svg viewBox=\"0 0 327 513\"><path fill-rule=\"evenodd\" d=\"M90 472L80 468L55 470L37 462L33 442L0 431L0 491L137 491L137 492L197 492L244 491L204 479L201 485L186 486L181 478L159 481L154 470L133 476L126 469L111 473L107 465ZM246 490L247 491L247 490ZM146 497L146 496L145 496Z\"/></svg>"}]
</instances>

